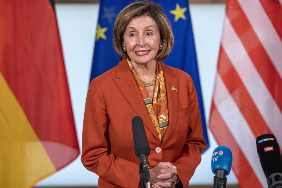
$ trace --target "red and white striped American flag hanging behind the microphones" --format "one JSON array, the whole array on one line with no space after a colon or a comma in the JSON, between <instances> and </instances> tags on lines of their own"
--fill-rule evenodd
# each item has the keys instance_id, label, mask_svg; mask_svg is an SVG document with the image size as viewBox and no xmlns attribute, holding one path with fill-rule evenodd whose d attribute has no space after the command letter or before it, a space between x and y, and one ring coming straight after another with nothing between
<instances>
[{"instance_id":1,"label":"red and white striped American flag hanging behind the microphones","mask_svg":"<svg viewBox=\"0 0 282 188\"><path fill-rule=\"evenodd\" d=\"M242 188L268 187L256 151L282 144L282 0L227 0L209 127Z\"/></svg>"}]
</instances>

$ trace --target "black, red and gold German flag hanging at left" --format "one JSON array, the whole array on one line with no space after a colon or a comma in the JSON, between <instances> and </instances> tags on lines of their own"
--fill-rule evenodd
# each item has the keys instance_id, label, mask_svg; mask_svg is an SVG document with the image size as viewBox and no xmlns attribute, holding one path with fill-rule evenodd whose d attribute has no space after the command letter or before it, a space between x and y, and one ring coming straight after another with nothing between
<instances>
[{"instance_id":1,"label":"black, red and gold German flag hanging at left","mask_svg":"<svg viewBox=\"0 0 282 188\"><path fill-rule=\"evenodd\" d=\"M78 154L51 3L0 0L1 187L32 187Z\"/></svg>"}]
</instances>

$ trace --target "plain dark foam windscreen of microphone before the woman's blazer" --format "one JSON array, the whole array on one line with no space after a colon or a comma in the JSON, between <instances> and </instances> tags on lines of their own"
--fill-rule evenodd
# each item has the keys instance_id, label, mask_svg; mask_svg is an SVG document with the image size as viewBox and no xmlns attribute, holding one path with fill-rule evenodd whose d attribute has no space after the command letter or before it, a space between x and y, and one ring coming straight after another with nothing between
<instances>
[{"instance_id":1,"label":"plain dark foam windscreen of microphone before the woman's blazer","mask_svg":"<svg viewBox=\"0 0 282 188\"><path fill-rule=\"evenodd\" d=\"M147 154L147 156L149 156L150 147L142 118L139 116L135 116L132 118L132 133L135 155L137 157L140 157L140 154Z\"/></svg>"}]
</instances>

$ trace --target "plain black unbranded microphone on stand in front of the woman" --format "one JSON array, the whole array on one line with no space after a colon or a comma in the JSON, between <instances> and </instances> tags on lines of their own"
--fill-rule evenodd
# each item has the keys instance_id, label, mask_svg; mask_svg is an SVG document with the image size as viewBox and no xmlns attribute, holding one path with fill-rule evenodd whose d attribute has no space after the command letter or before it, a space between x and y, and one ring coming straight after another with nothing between
<instances>
[{"instance_id":1,"label":"plain black unbranded microphone on stand in front of the woman","mask_svg":"<svg viewBox=\"0 0 282 188\"><path fill-rule=\"evenodd\" d=\"M132 133L135 155L140 159L139 174L141 184L143 188L145 188L145 184L147 184L147 188L150 188L150 171L148 166L150 147L142 118L139 116L132 118Z\"/></svg>"}]
</instances>

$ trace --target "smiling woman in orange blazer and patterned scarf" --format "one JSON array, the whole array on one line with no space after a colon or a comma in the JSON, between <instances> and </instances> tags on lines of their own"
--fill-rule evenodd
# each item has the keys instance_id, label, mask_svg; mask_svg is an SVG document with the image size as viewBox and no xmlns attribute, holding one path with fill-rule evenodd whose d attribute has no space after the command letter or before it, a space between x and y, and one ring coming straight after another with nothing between
<instances>
[{"instance_id":1,"label":"smiling woman in orange blazer and patterned scarf","mask_svg":"<svg viewBox=\"0 0 282 188\"><path fill-rule=\"evenodd\" d=\"M152 187L189 187L206 143L191 77L160 62L173 46L164 11L153 2L133 2L117 15L113 37L122 60L90 84L83 165L99 175L99 188L140 187L131 125L140 116Z\"/></svg>"}]
</instances>

